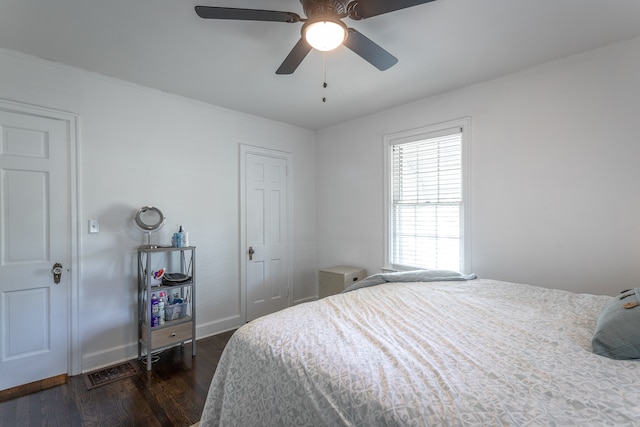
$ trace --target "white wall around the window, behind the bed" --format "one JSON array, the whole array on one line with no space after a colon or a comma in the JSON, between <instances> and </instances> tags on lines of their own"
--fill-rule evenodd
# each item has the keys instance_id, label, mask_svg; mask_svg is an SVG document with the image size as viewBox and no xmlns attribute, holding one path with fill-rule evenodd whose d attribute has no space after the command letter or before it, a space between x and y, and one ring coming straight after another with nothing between
<instances>
[{"instance_id":1,"label":"white wall around the window, behind the bed","mask_svg":"<svg viewBox=\"0 0 640 427\"><path fill-rule=\"evenodd\" d=\"M383 135L471 117L471 266L615 294L640 273L640 39L319 132L318 265L383 265Z\"/></svg>"}]
</instances>

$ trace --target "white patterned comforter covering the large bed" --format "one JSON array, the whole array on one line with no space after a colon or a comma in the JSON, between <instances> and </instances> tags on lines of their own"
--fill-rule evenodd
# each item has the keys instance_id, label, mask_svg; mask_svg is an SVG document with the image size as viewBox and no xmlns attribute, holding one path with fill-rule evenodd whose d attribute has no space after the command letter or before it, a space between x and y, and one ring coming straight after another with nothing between
<instances>
[{"instance_id":1,"label":"white patterned comforter covering the large bed","mask_svg":"<svg viewBox=\"0 0 640 427\"><path fill-rule=\"evenodd\" d=\"M291 307L233 335L201 426L640 425L640 361L591 352L609 298L471 280Z\"/></svg>"}]
</instances>

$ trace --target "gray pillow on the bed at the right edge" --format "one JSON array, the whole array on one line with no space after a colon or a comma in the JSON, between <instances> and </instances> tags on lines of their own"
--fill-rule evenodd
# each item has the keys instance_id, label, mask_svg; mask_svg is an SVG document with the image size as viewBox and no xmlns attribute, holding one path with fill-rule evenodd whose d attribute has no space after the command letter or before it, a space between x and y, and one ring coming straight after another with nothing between
<instances>
[{"instance_id":1,"label":"gray pillow on the bed at the right edge","mask_svg":"<svg viewBox=\"0 0 640 427\"><path fill-rule=\"evenodd\" d=\"M640 359L640 288L605 304L591 346L595 354L611 359Z\"/></svg>"}]
</instances>

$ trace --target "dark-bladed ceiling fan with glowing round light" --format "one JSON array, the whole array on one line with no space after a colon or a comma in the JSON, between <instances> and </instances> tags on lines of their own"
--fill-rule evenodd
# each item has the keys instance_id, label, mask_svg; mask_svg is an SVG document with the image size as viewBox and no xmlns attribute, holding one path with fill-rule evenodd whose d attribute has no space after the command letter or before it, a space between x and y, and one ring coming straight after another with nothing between
<instances>
[{"instance_id":1,"label":"dark-bladed ceiling fan with glowing round light","mask_svg":"<svg viewBox=\"0 0 640 427\"><path fill-rule=\"evenodd\" d=\"M361 20L431 1L434 0L300 0L306 18L293 12L275 10L215 6L196 6L195 10L198 16L205 19L303 22L300 40L276 74L292 74L312 48L329 51L341 44L384 71L395 65L398 59L366 36L347 27L342 18Z\"/></svg>"}]
</instances>

